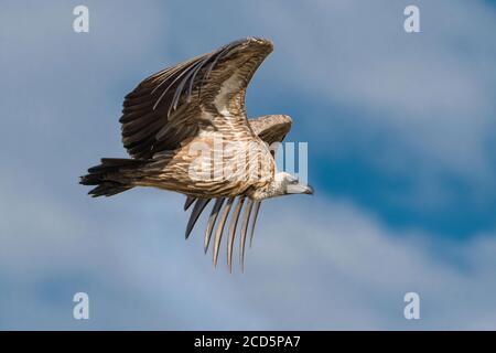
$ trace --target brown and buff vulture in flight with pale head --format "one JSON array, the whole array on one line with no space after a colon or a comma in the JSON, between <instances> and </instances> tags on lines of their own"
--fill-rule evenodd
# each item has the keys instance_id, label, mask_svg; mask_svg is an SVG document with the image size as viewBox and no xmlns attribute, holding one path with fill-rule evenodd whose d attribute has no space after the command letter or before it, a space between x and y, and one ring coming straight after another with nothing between
<instances>
[{"instance_id":1,"label":"brown and buff vulture in flight with pale head","mask_svg":"<svg viewBox=\"0 0 496 353\"><path fill-rule=\"evenodd\" d=\"M104 158L80 183L95 186L89 191L94 197L134 186L186 195L184 210L193 206L186 238L212 201L205 253L213 239L215 267L230 215L227 263L231 270L238 228L242 270L247 234L251 244L261 201L313 193L298 178L276 170L273 146L290 130L291 118L246 115L248 83L272 49L268 40L247 38L145 78L126 96L119 120L131 158Z\"/></svg>"}]
</instances>

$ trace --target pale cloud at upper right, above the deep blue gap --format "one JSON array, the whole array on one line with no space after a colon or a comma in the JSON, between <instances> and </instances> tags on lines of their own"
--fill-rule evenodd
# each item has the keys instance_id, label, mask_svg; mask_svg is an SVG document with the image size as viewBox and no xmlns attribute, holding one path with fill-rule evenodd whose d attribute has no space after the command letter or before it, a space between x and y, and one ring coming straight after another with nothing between
<instances>
[{"instance_id":1,"label":"pale cloud at upper right, above the deep blue gap","mask_svg":"<svg viewBox=\"0 0 496 353\"><path fill-rule=\"evenodd\" d=\"M277 62L270 72L279 87L353 111L354 121L335 110L294 117L315 121L314 143L333 154L358 150L381 173L410 175L422 190L454 175L494 191L496 12L483 1L417 1L422 33L407 34L407 4L281 1L244 10L276 42L266 65Z\"/></svg>"}]
</instances>

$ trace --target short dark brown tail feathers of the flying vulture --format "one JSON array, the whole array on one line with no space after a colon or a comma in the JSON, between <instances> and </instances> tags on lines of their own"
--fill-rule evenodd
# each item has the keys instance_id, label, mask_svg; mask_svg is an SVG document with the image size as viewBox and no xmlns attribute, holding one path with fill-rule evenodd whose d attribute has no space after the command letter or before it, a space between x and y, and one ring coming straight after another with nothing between
<instances>
[{"instance_id":1,"label":"short dark brown tail feathers of the flying vulture","mask_svg":"<svg viewBox=\"0 0 496 353\"><path fill-rule=\"evenodd\" d=\"M104 158L101 163L88 169L88 174L80 176L83 185L96 185L88 194L93 197L111 196L132 189L129 173L143 165L142 160Z\"/></svg>"}]
</instances>

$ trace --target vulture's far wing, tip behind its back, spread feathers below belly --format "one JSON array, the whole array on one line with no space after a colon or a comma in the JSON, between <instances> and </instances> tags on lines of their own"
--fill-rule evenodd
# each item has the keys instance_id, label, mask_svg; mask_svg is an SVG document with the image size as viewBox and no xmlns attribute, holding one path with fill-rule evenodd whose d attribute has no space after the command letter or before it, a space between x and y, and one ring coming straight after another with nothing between
<instances>
[{"instance_id":1,"label":"vulture's far wing, tip behind its back, spread feathers below belly","mask_svg":"<svg viewBox=\"0 0 496 353\"><path fill-rule=\"evenodd\" d=\"M274 142L282 142L285 135L291 129L292 120L287 115L269 115L269 116L262 116L255 119L248 120L251 130L258 135L258 137L263 140L266 143L271 146ZM273 150L272 150L273 153ZM272 154L273 156L273 154ZM245 195L240 195L238 197L238 203L235 207L235 212L230 220L230 226L229 226L229 236L227 239L227 265L229 267L229 270L231 270L233 266L233 247L234 247L234 239L236 235L236 227L238 225L238 218L241 213L241 208L245 204ZM193 207L193 211L190 216L190 221L187 223L186 227L186 238L190 236L191 232L193 231L193 227L198 220L200 215L202 214L203 210L205 210L205 206L208 204L211 199L195 199L187 196L186 203L184 204L184 211L187 211L187 208L191 207L191 205L194 203L195 206ZM224 232L224 227L226 224L227 216L229 212L233 208L233 203L235 199L230 197L227 203L225 203L225 199L219 197L215 200L215 204L212 207L211 215L208 216L208 223L205 231L205 240L204 240L204 248L205 253L208 250L208 245L211 243L212 234L217 225L216 232L215 232L215 239L214 239L214 252L213 252L213 260L214 266L217 264L218 259L218 250L220 246L222 235ZM254 239L254 231L255 231L255 224L257 222L258 213L260 210L260 201L251 201L247 200L246 207L245 207L245 214L242 216L242 223L241 223L241 231L240 231L240 238L239 238L239 264L241 267L241 270L244 268L244 259L245 259L245 243L247 238L248 227L250 227L250 246L251 242ZM224 206L224 208L223 208ZM220 214L220 218L218 218ZM217 223L218 218L218 223ZM250 222L251 218L251 222Z\"/></svg>"}]
</instances>

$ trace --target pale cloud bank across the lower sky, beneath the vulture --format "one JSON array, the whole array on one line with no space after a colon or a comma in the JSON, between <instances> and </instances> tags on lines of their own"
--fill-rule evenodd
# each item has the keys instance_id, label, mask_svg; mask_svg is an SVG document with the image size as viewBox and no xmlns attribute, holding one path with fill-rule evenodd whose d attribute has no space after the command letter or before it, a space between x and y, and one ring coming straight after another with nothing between
<instances>
[{"instance_id":1,"label":"pale cloud bank across the lower sky, beneath the vulture","mask_svg":"<svg viewBox=\"0 0 496 353\"><path fill-rule=\"evenodd\" d=\"M388 229L353 204L279 199L262 205L245 274L229 275L225 247L216 271L203 256L202 227L184 242L180 195L84 202L106 221L15 195L32 208L13 204L30 222L2 224L4 329L495 329L494 234L442 243ZM80 290L95 303L88 323L69 314ZM418 322L402 317L407 291L421 296Z\"/></svg>"}]
</instances>

